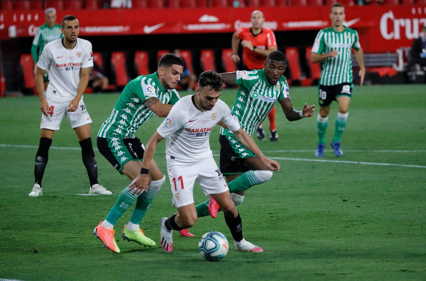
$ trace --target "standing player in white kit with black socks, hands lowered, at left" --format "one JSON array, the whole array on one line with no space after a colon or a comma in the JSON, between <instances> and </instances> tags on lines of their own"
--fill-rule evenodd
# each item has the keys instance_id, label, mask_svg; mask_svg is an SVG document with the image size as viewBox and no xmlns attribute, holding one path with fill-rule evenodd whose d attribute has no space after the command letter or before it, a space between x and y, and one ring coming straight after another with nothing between
<instances>
[{"instance_id":1,"label":"standing player in white kit with black socks, hands lowered, at left","mask_svg":"<svg viewBox=\"0 0 426 281\"><path fill-rule=\"evenodd\" d=\"M28 196L43 195L41 180L47 165L49 147L53 134L59 130L64 115L75 130L81 146L84 166L89 175L89 194L112 194L98 184L98 164L90 138L92 119L83 102L83 93L93 66L92 44L77 39L79 23L77 17L67 15L62 20L62 39L48 43L40 55L35 73L35 85L40 97L41 138L35 157L35 183ZM49 70L49 86L44 96L43 75Z\"/></svg>"}]
</instances>

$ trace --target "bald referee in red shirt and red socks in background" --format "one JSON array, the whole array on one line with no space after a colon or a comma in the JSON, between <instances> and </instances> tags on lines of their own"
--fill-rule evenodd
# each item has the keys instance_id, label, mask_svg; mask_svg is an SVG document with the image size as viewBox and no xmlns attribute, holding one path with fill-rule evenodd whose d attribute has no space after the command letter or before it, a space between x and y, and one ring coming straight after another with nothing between
<instances>
[{"instance_id":1,"label":"bald referee in red shirt and red socks in background","mask_svg":"<svg viewBox=\"0 0 426 281\"><path fill-rule=\"evenodd\" d=\"M243 47L243 60L247 70L263 69L266 57L272 51L276 51L276 40L273 31L268 28L262 28L265 17L259 10L253 11L250 15L252 27L240 28L232 35L232 57L234 62L239 62L241 59L238 56L238 45ZM269 119L269 139L271 141L278 140L278 133L275 125L275 107L268 115ZM266 138L262 124L257 128L257 138L264 140Z\"/></svg>"}]
</instances>

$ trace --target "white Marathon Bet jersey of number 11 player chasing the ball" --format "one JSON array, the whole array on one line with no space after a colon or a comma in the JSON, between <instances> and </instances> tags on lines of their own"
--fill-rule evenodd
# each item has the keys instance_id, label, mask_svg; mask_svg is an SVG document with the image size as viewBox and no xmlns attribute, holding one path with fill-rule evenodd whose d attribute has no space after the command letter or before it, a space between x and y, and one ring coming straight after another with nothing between
<instances>
[{"instance_id":1,"label":"white Marathon Bet jersey of number 11 player chasing the ball","mask_svg":"<svg viewBox=\"0 0 426 281\"><path fill-rule=\"evenodd\" d=\"M157 129L161 137L167 138L167 164L193 165L212 157L209 135L219 121L233 132L240 129L225 102L218 100L211 110L203 112L195 106L194 97L181 98Z\"/></svg>"}]
</instances>

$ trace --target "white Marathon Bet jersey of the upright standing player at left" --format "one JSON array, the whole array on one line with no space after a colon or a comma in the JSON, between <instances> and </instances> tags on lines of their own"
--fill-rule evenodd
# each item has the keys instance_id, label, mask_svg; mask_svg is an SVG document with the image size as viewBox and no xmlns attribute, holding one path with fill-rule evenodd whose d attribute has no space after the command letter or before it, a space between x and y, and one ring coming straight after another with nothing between
<instances>
[{"instance_id":1,"label":"white Marathon Bet jersey of the upright standing player at left","mask_svg":"<svg viewBox=\"0 0 426 281\"><path fill-rule=\"evenodd\" d=\"M68 50L62 39L44 46L37 66L49 73L47 95L71 101L77 96L80 69L93 66L92 43L77 38L75 47Z\"/></svg>"}]
</instances>

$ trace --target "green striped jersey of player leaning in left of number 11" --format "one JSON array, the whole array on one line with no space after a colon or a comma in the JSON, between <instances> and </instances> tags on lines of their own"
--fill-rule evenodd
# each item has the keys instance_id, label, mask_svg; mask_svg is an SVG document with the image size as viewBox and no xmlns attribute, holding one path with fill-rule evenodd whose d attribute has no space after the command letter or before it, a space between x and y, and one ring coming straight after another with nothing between
<instances>
[{"instance_id":1,"label":"green striped jersey of player leaning in left of number 11","mask_svg":"<svg viewBox=\"0 0 426 281\"><path fill-rule=\"evenodd\" d=\"M147 98L156 97L163 104L175 104L179 94L175 89L164 90L157 73L141 75L124 87L107 121L102 124L98 137L135 138L135 132L155 113L145 106Z\"/></svg>"}]
</instances>

